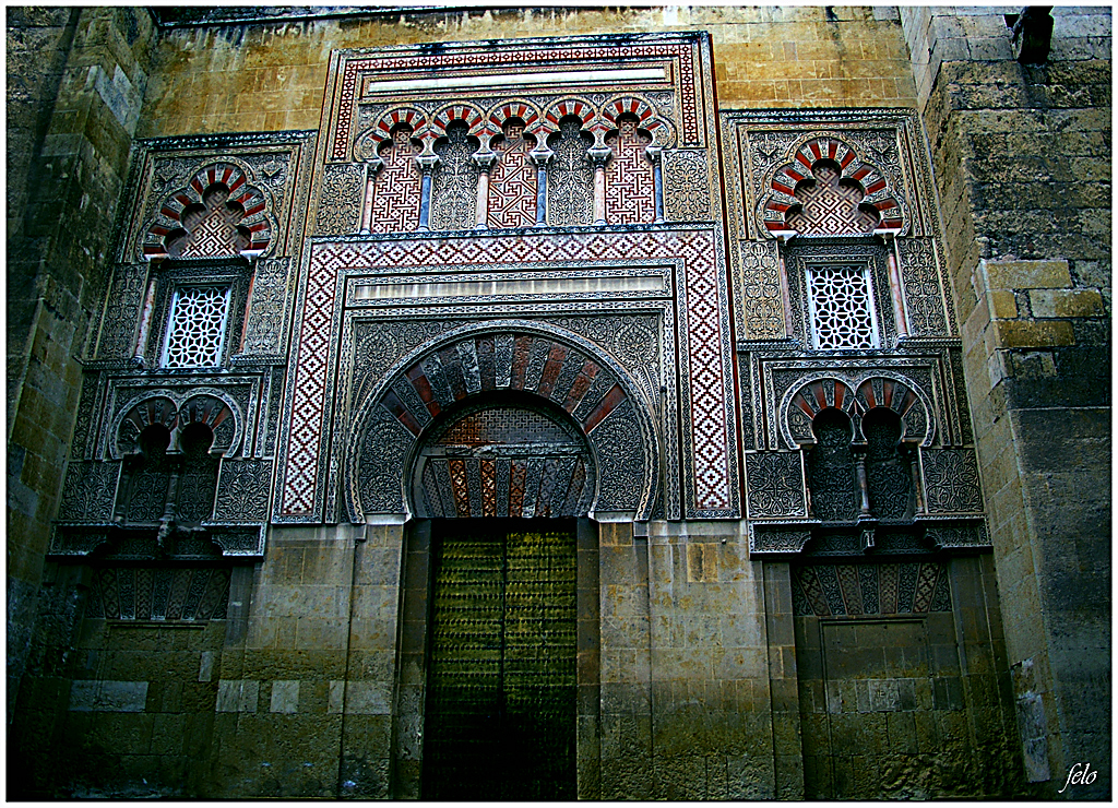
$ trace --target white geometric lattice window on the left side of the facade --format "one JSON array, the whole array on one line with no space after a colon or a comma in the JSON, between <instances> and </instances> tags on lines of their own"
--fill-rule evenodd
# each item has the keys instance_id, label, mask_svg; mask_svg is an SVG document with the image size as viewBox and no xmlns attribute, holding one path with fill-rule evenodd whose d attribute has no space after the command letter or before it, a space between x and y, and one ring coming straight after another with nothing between
<instances>
[{"instance_id":1,"label":"white geometric lattice window on the left side of the facade","mask_svg":"<svg viewBox=\"0 0 1118 808\"><path fill-rule=\"evenodd\" d=\"M229 286L182 286L174 291L163 348L164 368L212 368L221 361Z\"/></svg>"}]
</instances>

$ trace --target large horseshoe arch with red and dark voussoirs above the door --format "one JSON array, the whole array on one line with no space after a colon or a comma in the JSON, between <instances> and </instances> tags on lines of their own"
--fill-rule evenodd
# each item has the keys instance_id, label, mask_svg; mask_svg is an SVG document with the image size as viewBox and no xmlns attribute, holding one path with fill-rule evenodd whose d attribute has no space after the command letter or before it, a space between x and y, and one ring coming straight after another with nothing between
<instances>
[{"instance_id":1,"label":"large horseshoe arch with red and dark voussoirs above the door","mask_svg":"<svg viewBox=\"0 0 1118 808\"><path fill-rule=\"evenodd\" d=\"M574 507L569 515L651 515L657 448L652 410L637 386L586 340L515 323L506 329L467 326L444 335L397 363L370 391L347 438L343 495L350 517L362 522L375 515L427 513L414 496L415 485L421 493L425 447L436 445L432 441L440 438L434 436L449 418L485 410L492 410L493 418L500 411L519 411L550 419L572 441L562 451L575 451L576 438L585 441L585 473L594 486L571 506L563 501L563 510ZM496 453L494 448L490 454ZM479 464L483 454L475 458ZM577 464L559 464L557 458L556 474L577 474ZM417 467L419 481L414 484ZM561 483L560 477L548 484ZM476 482L481 485L481 477ZM437 479L433 484L437 486ZM457 515L457 506L454 511L446 515ZM474 508L467 512L473 515Z\"/></svg>"}]
</instances>

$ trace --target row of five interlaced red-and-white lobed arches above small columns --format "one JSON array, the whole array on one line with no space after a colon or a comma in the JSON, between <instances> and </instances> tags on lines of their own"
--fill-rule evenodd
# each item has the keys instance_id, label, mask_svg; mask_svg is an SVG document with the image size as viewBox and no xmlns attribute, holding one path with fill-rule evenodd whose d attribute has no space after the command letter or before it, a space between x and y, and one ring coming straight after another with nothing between
<instances>
[{"instance_id":1,"label":"row of five interlaced red-and-white lobed arches above small columns","mask_svg":"<svg viewBox=\"0 0 1118 808\"><path fill-rule=\"evenodd\" d=\"M447 129L457 124L465 125L467 136L480 144L474 160L482 168L489 168L498 156L493 145L504 136L509 125L517 125L536 141L533 158L546 161L551 156L548 139L559 132L560 121L571 117L578 118L582 129L594 136L591 154L594 150L599 150L603 159L609 156L606 140L618 132L623 118L635 121L637 130L646 134L650 143L645 151L650 159L655 159L661 150L675 143L675 127L657 115L648 102L636 96L618 95L598 105L586 98L566 97L547 106L512 98L489 108L452 103L434 114L415 106L396 106L382 113L372 126L356 137L353 156L379 168L382 149L404 132L419 150L417 160L420 167L432 168L438 160L436 142L446 137Z\"/></svg>"}]
</instances>

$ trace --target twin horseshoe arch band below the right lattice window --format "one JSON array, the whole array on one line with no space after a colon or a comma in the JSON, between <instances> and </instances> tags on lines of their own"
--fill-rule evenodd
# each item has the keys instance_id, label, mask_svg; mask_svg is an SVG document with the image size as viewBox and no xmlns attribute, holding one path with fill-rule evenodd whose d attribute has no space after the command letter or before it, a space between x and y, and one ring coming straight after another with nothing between
<instances>
[{"instance_id":1,"label":"twin horseshoe arch band below the right lattice window","mask_svg":"<svg viewBox=\"0 0 1118 808\"><path fill-rule=\"evenodd\" d=\"M780 431L790 447L815 443L812 421L824 409L845 412L854 429L853 443L865 443L862 419L873 409L883 407L896 412L901 421L901 440L906 444L931 446L936 421L928 397L911 381L887 376L844 380L818 376L800 380L784 396L780 405Z\"/></svg>"}]
</instances>

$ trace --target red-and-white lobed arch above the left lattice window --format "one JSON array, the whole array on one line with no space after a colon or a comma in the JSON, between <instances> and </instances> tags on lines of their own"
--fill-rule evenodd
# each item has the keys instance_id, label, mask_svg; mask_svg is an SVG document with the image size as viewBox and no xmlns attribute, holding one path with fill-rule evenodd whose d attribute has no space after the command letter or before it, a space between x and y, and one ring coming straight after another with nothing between
<instances>
[{"instance_id":1,"label":"red-and-white lobed arch above the left lattice window","mask_svg":"<svg viewBox=\"0 0 1118 808\"><path fill-rule=\"evenodd\" d=\"M210 163L184 188L168 194L148 226L145 258L258 256L276 229L271 194L250 181L247 167Z\"/></svg>"}]
</instances>

